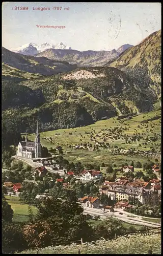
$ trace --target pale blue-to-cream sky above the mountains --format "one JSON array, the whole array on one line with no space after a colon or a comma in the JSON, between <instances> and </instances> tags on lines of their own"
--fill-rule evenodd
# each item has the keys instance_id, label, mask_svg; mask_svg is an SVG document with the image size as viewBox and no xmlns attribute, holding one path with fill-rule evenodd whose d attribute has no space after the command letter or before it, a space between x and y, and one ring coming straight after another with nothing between
<instances>
[{"instance_id":1,"label":"pale blue-to-cream sky above the mountains","mask_svg":"<svg viewBox=\"0 0 163 256\"><path fill-rule=\"evenodd\" d=\"M28 11L14 10L23 6ZM53 11L55 6L62 10ZM36 11L33 7L50 10ZM63 42L79 51L112 50L124 44L137 45L161 29L160 3L3 2L2 14L2 44L9 50L29 42L41 45L45 41ZM37 28L36 25L66 28Z\"/></svg>"}]
</instances>

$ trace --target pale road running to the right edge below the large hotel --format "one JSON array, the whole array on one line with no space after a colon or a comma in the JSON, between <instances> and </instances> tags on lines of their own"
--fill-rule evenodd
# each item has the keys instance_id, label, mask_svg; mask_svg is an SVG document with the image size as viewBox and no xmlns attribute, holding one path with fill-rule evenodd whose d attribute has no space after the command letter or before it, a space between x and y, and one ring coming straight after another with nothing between
<instances>
[{"instance_id":1,"label":"pale road running to the right edge below the large hotel","mask_svg":"<svg viewBox=\"0 0 163 256\"><path fill-rule=\"evenodd\" d=\"M124 214L123 212L123 216L122 215L119 215L119 211L116 211L116 212L107 212L107 213L103 213L103 209L91 209L91 208L84 208L84 213L85 214L90 214L90 215L98 215L98 216L101 216L103 219L107 218L107 217L113 217L113 218L116 218L118 220L121 220L121 221L125 221L125 222L128 222L128 223L131 223L131 224L137 224L137 225L142 225L142 226L147 226L147 227L160 227L160 223L151 223L151 222L148 222L148 221L144 221L138 217L127 217L128 215L128 212L126 212Z\"/></svg>"}]
</instances>

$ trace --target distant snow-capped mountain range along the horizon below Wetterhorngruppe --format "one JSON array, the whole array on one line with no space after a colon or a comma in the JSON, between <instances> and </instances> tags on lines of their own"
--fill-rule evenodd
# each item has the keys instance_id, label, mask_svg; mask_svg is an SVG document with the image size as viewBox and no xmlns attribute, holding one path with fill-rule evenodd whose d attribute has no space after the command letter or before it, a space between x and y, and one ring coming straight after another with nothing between
<instances>
[{"instance_id":1,"label":"distant snow-capped mountain range along the horizon below Wetterhorngruppe","mask_svg":"<svg viewBox=\"0 0 163 256\"><path fill-rule=\"evenodd\" d=\"M45 44L37 45L32 42L19 48L12 49L13 52L23 55L32 55L36 57L47 57L51 60L67 61L70 64L76 64L78 67L103 66L109 60L118 57L123 51L132 47L126 44L112 51L77 51L60 42L58 45Z\"/></svg>"}]
</instances>

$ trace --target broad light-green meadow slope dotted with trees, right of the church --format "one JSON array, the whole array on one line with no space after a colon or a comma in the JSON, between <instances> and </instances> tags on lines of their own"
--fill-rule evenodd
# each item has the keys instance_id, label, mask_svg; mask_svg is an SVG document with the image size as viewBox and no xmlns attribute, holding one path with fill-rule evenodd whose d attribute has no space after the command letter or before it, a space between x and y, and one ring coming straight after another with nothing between
<instances>
[{"instance_id":1,"label":"broad light-green meadow slope dotted with trees, right of the church","mask_svg":"<svg viewBox=\"0 0 163 256\"><path fill-rule=\"evenodd\" d=\"M131 144L125 144L125 139L110 139L106 138L106 142L108 142L111 146L117 145L118 147L124 147L126 150L130 147L135 148L135 150L150 150L150 147L160 148L160 118L152 121L148 121L148 127L142 126L141 121L149 120L155 116L160 116L160 110L152 111L148 113L143 113L138 116L134 116L132 119L123 119L124 123L121 120L117 120L117 117L110 118L107 120L100 120L94 124L82 127L75 127L74 129L60 129L49 132L42 132L41 136L41 144L46 146L47 148L55 148L57 145L62 146L64 151L64 158L76 162L81 161L83 163L112 163L121 165L124 162L128 162L128 164L134 161L140 161L142 164L147 161L146 157L128 157L125 155L114 155L109 153L108 150L104 150L103 148L99 148L99 152L92 152L84 149L75 150L75 148L69 147L70 145L75 145L78 143L91 143L92 146L95 144L94 141L91 141L90 134L88 132L93 132L94 136L102 135L102 133L107 133L108 129L113 129L114 127L127 127L128 130L123 130L123 135L128 135L129 138L133 136L133 134L138 133L142 135L144 138L139 142L131 142ZM140 126L139 126L140 125ZM139 127L138 127L139 126ZM152 130L153 129L153 130ZM72 134L70 134L72 133ZM158 141L152 142L148 141L147 145L143 145L145 139L148 137L150 139L151 136L154 136L154 133L158 135ZM35 134L31 134L28 136L30 140L35 139ZM51 137L52 141L49 140ZM97 141L102 142L102 139L96 138ZM141 144L141 146L140 146ZM153 161L154 159L151 158Z\"/></svg>"}]
</instances>

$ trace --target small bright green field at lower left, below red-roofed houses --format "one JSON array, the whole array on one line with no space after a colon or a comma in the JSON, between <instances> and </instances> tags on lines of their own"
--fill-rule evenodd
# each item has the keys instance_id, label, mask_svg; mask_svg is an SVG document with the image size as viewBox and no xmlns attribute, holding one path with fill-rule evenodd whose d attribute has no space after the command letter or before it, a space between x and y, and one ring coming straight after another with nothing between
<instances>
[{"instance_id":1,"label":"small bright green field at lower left, below red-roofed houses","mask_svg":"<svg viewBox=\"0 0 163 256\"><path fill-rule=\"evenodd\" d=\"M14 211L13 221L24 222L28 221L29 212L28 212L28 204L23 204L19 201L19 197L9 197L5 196L7 202L11 205L11 208ZM31 206L34 215L37 212L37 208L35 206Z\"/></svg>"}]
</instances>

